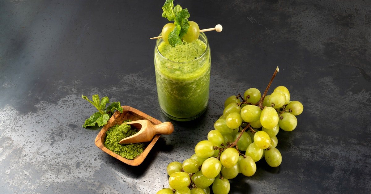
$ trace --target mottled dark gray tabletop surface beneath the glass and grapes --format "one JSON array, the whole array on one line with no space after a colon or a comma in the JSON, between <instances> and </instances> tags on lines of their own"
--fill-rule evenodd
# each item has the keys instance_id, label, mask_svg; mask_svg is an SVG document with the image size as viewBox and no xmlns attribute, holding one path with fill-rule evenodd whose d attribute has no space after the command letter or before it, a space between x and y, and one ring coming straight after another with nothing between
<instances>
[{"instance_id":1,"label":"mottled dark gray tabletop surface beneath the glass and grapes","mask_svg":"<svg viewBox=\"0 0 371 194\"><path fill-rule=\"evenodd\" d=\"M230 193L371 193L371 3L368 0L184 1L208 32L209 108L172 121L138 167L95 147L81 127L99 94L161 121L153 50L161 1L0 0L0 193L155 193L222 114L224 99L284 85L304 112L278 135L280 167L257 162ZM273 89L270 90L270 92ZM184 138L187 137L187 138Z\"/></svg>"}]
</instances>

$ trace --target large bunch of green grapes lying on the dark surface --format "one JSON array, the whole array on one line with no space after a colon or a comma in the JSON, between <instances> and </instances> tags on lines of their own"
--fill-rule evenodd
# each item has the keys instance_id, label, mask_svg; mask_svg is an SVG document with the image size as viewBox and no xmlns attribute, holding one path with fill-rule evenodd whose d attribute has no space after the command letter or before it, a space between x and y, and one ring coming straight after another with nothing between
<instances>
[{"instance_id":1,"label":"large bunch of green grapes lying on the dark surface","mask_svg":"<svg viewBox=\"0 0 371 194\"><path fill-rule=\"evenodd\" d=\"M296 128L297 115L303 112L299 101L290 101L289 90L278 86L270 95L261 95L256 88L243 96L230 96L224 102L223 115L214 129L194 147L194 154L183 163L167 166L169 188L157 194L227 194L229 180L239 173L250 177L256 162L264 160L278 167L282 155L276 148L279 129Z\"/></svg>"}]
</instances>

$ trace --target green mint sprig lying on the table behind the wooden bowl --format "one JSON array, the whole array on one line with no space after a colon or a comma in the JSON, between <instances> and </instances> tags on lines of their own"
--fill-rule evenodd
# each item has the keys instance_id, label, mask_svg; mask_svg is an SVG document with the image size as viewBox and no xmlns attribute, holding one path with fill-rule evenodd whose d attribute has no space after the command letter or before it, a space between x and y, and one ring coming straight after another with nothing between
<instances>
[{"instance_id":1,"label":"green mint sprig lying on the table behind the wooden bowl","mask_svg":"<svg viewBox=\"0 0 371 194\"><path fill-rule=\"evenodd\" d=\"M99 99L98 94L92 96L92 100L89 100L87 96L82 95L82 98L89 101L92 105L95 106L96 109L98 109L98 112L92 114L90 118L85 120L85 124L82 125L83 128L86 128L88 126L95 126L95 124L98 124L98 126L103 126L107 124L107 121L109 118L111 118L113 112L116 110L119 112L122 112L123 109L120 105L120 102L109 102L109 99L107 96L103 97L102 99ZM111 103L108 107L107 104ZM106 108L107 107L107 108Z\"/></svg>"}]
</instances>

